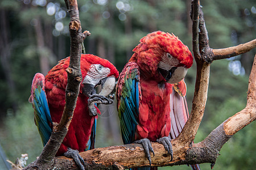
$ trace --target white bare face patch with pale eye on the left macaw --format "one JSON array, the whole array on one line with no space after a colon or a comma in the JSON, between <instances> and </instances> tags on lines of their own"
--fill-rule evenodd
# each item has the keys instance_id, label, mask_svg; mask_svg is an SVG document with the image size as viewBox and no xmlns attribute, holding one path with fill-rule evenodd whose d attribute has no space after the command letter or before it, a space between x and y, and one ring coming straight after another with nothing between
<instances>
[{"instance_id":1,"label":"white bare face patch with pale eye on the left macaw","mask_svg":"<svg viewBox=\"0 0 256 170\"><path fill-rule=\"evenodd\" d=\"M101 79L108 76L110 69L99 64L91 65L82 83L89 83L96 86Z\"/></svg>"}]
</instances>

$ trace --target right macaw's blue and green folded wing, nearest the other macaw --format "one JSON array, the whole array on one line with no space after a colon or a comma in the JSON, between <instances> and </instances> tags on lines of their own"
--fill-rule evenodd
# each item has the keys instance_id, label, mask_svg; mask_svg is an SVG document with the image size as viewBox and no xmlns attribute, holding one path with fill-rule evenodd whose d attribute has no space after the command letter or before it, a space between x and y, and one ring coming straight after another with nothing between
<instances>
[{"instance_id":1,"label":"right macaw's blue and green folded wing, nearest the other macaw","mask_svg":"<svg viewBox=\"0 0 256 170\"><path fill-rule=\"evenodd\" d=\"M121 125L123 143L132 143L138 125L141 85L140 71L135 62L129 62L123 68L117 83L117 109Z\"/></svg>"}]
</instances>

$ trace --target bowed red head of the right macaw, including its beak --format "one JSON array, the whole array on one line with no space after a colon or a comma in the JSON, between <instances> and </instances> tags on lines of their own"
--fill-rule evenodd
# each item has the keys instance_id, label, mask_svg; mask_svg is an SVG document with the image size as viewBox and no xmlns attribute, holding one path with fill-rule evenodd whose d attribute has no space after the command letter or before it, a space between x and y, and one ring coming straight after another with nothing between
<instances>
[{"instance_id":1,"label":"bowed red head of the right macaw, including its beak","mask_svg":"<svg viewBox=\"0 0 256 170\"><path fill-rule=\"evenodd\" d=\"M180 82L192 66L193 57L188 47L173 34L156 31L140 40L133 49L130 61L137 62L143 74L160 81Z\"/></svg>"}]
</instances>

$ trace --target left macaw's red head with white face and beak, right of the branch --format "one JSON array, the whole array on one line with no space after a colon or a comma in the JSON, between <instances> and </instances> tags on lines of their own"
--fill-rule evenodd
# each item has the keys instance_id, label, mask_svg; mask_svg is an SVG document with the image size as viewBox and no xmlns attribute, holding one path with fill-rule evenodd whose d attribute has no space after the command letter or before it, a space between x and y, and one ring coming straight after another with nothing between
<instances>
[{"instance_id":1,"label":"left macaw's red head with white face and beak, right of the branch","mask_svg":"<svg viewBox=\"0 0 256 170\"><path fill-rule=\"evenodd\" d=\"M81 55L82 94L90 96L95 93L95 87L101 85L99 95L108 96L115 87L118 71L108 60L92 54Z\"/></svg>"}]
</instances>

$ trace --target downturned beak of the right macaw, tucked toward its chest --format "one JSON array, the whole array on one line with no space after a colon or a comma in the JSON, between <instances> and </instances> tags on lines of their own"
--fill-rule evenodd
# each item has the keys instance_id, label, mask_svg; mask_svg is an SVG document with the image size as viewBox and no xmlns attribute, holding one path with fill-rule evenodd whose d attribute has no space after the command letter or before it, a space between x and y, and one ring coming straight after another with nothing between
<instances>
[{"instance_id":1,"label":"downturned beak of the right macaw, tucked toward its chest","mask_svg":"<svg viewBox=\"0 0 256 170\"><path fill-rule=\"evenodd\" d=\"M158 68L167 83L175 84L184 79L188 69L185 67L172 67L170 70Z\"/></svg>"}]
</instances>

